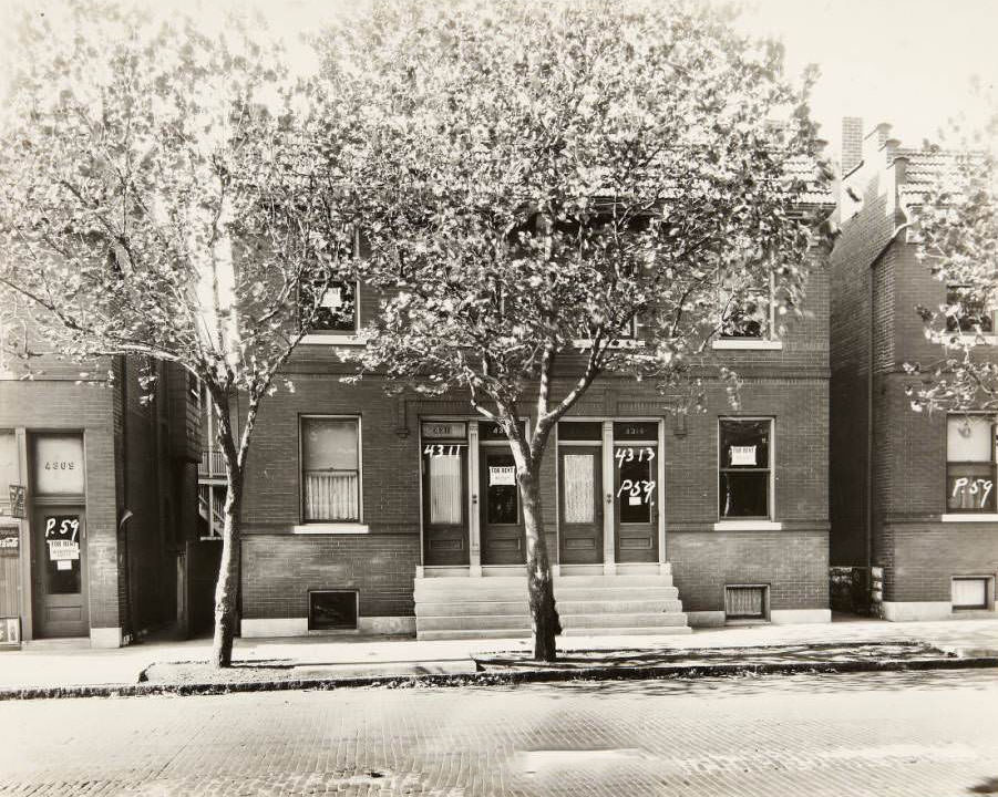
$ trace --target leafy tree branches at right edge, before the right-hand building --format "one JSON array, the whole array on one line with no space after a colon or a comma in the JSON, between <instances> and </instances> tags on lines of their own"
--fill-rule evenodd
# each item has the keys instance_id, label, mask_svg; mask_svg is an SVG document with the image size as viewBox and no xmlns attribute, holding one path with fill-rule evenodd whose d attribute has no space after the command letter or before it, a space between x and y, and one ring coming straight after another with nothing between
<instances>
[{"instance_id":1,"label":"leafy tree branches at right edge, before the right-hand building","mask_svg":"<svg viewBox=\"0 0 998 797\"><path fill-rule=\"evenodd\" d=\"M943 355L905 364L918 376L907 387L917 411L998 410L998 361L980 349L982 335L995 332L990 315L998 308L998 103L988 106L989 123L965 135L953 122L944 137L958 143L929 146L937 167L913 218L918 256L940 282L960 288L940 306L918 308Z\"/></svg>"}]
</instances>

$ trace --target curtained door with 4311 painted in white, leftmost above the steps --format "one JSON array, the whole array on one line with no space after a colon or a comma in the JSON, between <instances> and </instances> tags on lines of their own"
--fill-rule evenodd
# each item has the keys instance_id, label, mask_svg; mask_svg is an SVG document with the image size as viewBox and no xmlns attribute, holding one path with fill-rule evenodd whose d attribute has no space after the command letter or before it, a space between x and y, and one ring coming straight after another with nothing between
<instances>
[{"instance_id":1,"label":"curtained door with 4311 painted in white, leftmost above the steps","mask_svg":"<svg viewBox=\"0 0 998 797\"><path fill-rule=\"evenodd\" d=\"M467 444L423 446L423 563L467 565Z\"/></svg>"}]
</instances>

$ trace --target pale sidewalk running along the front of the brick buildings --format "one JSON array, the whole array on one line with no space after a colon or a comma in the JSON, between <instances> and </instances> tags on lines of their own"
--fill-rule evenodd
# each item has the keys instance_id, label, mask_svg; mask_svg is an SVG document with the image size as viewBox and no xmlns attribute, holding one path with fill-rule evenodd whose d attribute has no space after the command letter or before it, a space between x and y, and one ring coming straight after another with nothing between
<instances>
[{"instance_id":1,"label":"pale sidewalk running along the front of the brick buildings","mask_svg":"<svg viewBox=\"0 0 998 797\"><path fill-rule=\"evenodd\" d=\"M889 643L934 648L940 659L938 651L949 658L996 658L998 619L888 623L848 618L836 619L831 624L729 625L695 630L682 636L567 636L558 640L558 650L566 658L582 651L640 651L652 655L699 651L711 660L717 661L721 655L737 664L742 653L758 658L765 653L762 650L765 648L814 645L806 659L815 661L820 660L821 651L832 646L884 644L886 651ZM29 642L21 651L0 652L0 690L134 685L154 664L205 662L210 652L209 639L151 640L120 650L91 650L79 644L75 641ZM713 655L709 653L711 649L716 651ZM730 650L721 653L719 649ZM234 663L290 670L303 680L408 677L474 673L481 669L476 659L517 660L523 664L529 650L529 640L517 639L428 642L390 636L237 639Z\"/></svg>"}]
</instances>

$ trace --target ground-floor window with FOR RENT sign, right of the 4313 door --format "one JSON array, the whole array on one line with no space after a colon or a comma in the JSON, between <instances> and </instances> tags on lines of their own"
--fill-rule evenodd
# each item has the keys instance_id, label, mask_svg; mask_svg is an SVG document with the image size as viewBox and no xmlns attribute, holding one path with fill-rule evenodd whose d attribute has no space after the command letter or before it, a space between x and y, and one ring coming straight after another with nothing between
<instances>
[{"instance_id":1,"label":"ground-floor window with FOR RENT sign, right of the 4313 door","mask_svg":"<svg viewBox=\"0 0 998 797\"><path fill-rule=\"evenodd\" d=\"M718 517L772 516L772 418L721 418L718 429Z\"/></svg>"}]
</instances>

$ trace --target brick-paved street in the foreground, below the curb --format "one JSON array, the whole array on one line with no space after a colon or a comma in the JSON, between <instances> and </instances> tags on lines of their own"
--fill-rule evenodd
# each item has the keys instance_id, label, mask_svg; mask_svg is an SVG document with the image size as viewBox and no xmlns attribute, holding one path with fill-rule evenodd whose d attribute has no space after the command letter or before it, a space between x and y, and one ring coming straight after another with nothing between
<instances>
[{"instance_id":1,"label":"brick-paved street in the foreground, below the curb","mask_svg":"<svg viewBox=\"0 0 998 797\"><path fill-rule=\"evenodd\" d=\"M6 702L0 794L998 794L998 673Z\"/></svg>"}]
</instances>

